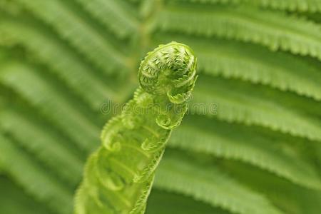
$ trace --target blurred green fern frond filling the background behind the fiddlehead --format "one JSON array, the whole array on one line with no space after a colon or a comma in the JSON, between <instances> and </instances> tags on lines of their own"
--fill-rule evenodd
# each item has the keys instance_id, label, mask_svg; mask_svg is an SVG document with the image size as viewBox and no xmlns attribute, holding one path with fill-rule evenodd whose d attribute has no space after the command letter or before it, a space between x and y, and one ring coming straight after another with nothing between
<instances>
[{"instance_id":1,"label":"blurred green fern frond filling the background behind the fiddlehead","mask_svg":"<svg viewBox=\"0 0 321 214\"><path fill-rule=\"evenodd\" d=\"M146 213L320 213L320 0L0 0L1 214L72 213L103 124L170 41L200 78Z\"/></svg>"}]
</instances>

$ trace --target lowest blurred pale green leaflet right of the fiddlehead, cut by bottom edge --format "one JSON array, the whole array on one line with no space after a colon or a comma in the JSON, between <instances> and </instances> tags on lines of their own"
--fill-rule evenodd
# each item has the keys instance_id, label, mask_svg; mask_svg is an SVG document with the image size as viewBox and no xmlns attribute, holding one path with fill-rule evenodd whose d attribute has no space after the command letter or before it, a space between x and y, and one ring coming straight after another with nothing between
<instances>
[{"instance_id":1,"label":"lowest blurred pale green leaflet right of the fiddlehead, cut by bottom edge","mask_svg":"<svg viewBox=\"0 0 321 214\"><path fill-rule=\"evenodd\" d=\"M156 174L156 188L190 195L232 213L282 213L267 198L228 177L215 166L183 157L165 156Z\"/></svg>"}]
</instances>

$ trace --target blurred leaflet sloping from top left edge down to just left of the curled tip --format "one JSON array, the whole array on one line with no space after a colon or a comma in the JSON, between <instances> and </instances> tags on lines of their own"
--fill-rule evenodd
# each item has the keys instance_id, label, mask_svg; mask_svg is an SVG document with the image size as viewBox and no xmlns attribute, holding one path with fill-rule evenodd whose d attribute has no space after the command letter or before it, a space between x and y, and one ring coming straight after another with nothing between
<instances>
[{"instance_id":1,"label":"blurred leaflet sloping from top left edge down to just left of the curled tip","mask_svg":"<svg viewBox=\"0 0 321 214\"><path fill-rule=\"evenodd\" d=\"M74 49L103 72L113 73L116 69L118 72L126 72L123 66L126 58L61 1L17 1L32 11L36 17L52 26L61 39L66 39ZM73 39L75 37L78 39Z\"/></svg>"}]
</instances>

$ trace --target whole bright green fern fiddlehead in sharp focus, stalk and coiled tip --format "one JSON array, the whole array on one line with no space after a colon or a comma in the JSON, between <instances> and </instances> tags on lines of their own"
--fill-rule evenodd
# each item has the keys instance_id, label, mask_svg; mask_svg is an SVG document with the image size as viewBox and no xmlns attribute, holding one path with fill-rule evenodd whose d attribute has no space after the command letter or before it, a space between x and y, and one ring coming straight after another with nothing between
<instances>
[{"instance_id":1,"label":"whole bright green fern fiddlehead in sharp focus, stalk and coiled tip","mask_svg":"<svg viewBox=\"0 0 321 214\"><path fill-rule=\"evenodd\" d=\"M88 158L76 214L145 212L165 144L187 111L195 69L193 51L184 44L171 42L148 53L133 99L106 124L101 147Z\"/></svg>"}]
</instances>

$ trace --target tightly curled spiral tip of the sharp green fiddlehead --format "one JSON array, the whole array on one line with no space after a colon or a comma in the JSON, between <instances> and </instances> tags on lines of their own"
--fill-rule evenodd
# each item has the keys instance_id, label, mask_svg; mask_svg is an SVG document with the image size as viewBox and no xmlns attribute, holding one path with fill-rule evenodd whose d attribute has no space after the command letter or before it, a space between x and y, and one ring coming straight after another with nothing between
<instances>
[{"instance_id":1,"label":"tightly curled spiral tip of the sharp green fiddlehead","mask_svg":"<svg viewBox=\"0 0 321 214\"><path fill-rule=\"evenodd\" d=\"M149 52L141 62L138 81L144 91L167 95L172 103L183 103L196 81L197 60L190 47L172 41Z\"/></svg>"}]
</instances>

